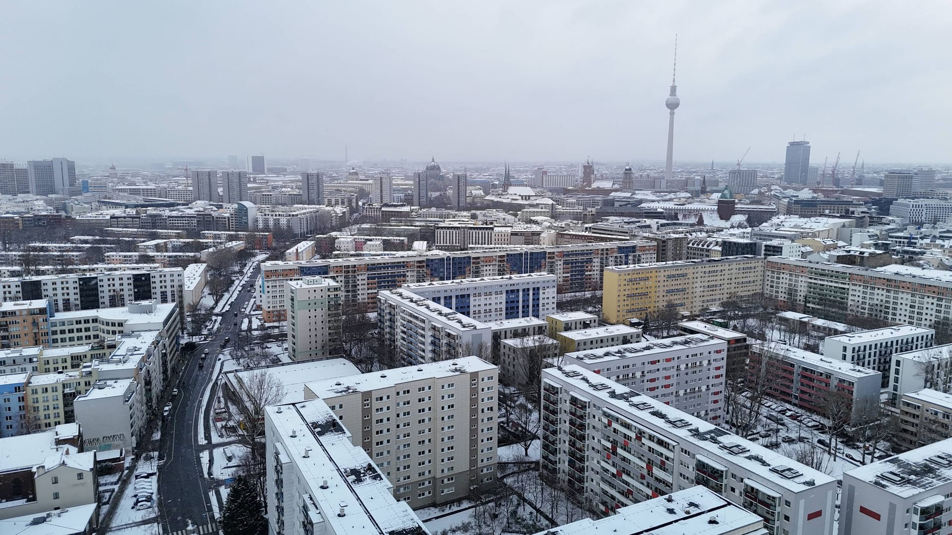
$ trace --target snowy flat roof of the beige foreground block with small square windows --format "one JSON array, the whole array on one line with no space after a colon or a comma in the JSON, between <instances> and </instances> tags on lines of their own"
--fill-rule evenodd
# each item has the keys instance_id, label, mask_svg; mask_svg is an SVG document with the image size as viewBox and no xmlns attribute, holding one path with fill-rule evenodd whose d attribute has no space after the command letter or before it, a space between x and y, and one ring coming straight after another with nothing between
<instances>
[{"instance_id":1,"label":"snowy flat roof of the beige foreground block with small square windows","mask_svg":"<svg viewBox=\"0 0 952 535\"><path fill-rule=\"evenodd\" d=\"M460 373L473 371L488 371L496 369L479 357L463 357L460 359L424 363L419 366L396 367L381 371L371 371L360 375L349 375L337 379L326 379L307 383L307 389L319 398L329 399L351 392L366 392L387 386L395 386L422 379L441 379L452 377Z\"/></svg>"}]
</instances>

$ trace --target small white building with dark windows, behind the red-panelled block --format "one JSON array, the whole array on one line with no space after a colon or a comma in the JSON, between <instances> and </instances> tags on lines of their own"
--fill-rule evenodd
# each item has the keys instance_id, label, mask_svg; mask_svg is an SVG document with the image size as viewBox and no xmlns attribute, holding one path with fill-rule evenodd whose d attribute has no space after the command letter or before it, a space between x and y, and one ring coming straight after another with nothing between
<instances>
[{"instance_id":1,"label":"small white building with dark windows, behind the red-panelled block","mask_svg":"<svg viewBox=\"0 0 952 535\"><path fill-rule=\"evenodd\" d=\"M885 388L893 354L932 347L935 337L935 329L911 325L861 330L827 336L823 340L823 356L883 373Z\"/></svg>"}]
</instances>

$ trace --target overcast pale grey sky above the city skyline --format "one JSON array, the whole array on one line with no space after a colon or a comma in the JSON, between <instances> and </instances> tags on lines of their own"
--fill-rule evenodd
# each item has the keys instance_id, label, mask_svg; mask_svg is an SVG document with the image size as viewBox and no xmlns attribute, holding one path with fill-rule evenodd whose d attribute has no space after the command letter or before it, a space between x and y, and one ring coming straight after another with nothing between
<instances>
[{"instance_id":1,"label":"overcast pale grey sky above the city skyline","mask_svg":"<svg viewBox=\"0 0 952 535\"><path fill-rule=\"evenodd\" d=\"M949 162L952 2L0 5L0 157Z\"/></svg>"}]
</instances>

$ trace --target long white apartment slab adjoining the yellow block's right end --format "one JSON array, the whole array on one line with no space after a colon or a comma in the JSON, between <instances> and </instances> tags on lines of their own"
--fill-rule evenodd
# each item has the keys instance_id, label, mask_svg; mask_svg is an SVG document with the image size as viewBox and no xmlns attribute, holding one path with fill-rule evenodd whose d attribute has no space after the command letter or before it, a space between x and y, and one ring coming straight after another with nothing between
<instances>
[{"instance_id":1,"label":"long white apartment slab adjoining the yellow block's right end","mask_svg":"<svg viewBox=\"0 0 952 535\"><path fill-rule=\"evenodd\" d=\"M771 257L764 264L764 296L782 309L818 316L833 309L892 324L952 326L952 273L939 269Z\"/></svg>"}]
</instances>

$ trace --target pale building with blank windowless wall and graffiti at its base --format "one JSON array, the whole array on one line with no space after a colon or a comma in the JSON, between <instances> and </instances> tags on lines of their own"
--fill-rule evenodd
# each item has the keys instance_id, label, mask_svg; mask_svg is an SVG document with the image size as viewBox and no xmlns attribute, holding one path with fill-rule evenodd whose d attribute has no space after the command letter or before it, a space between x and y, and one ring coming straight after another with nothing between
<instances>
[{"instance_id":1,"label":"pale building with blank windowless wall and graffiti at its base","mask_svg":"<svg viewBox=\"0 0 952 535\"><path fill-rule=\"evenodd\" d=\"M83 448L107 451L137 446L148 425L144 388L134 379L100 379L72 402L83 426Z\"/></svg>"}]
</instances>

